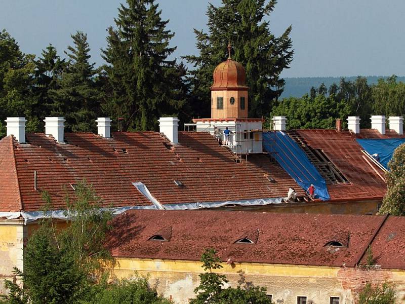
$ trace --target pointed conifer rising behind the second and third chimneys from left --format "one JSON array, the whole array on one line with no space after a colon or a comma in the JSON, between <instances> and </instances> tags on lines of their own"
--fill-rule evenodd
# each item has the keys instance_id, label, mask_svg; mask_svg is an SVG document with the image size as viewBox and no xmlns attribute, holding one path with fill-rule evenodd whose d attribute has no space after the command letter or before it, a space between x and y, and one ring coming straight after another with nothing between
<instances>
[{"instance_id":1,"label":"pointed conifer rising behind the second and third chimneys from left","mask_svg":"<svg viewBox=\"0 0 405 304\"><path fill-rule=\"evenodd\" d=\"M54 100L51 115L63 116L65 128L74 132L95 131L101 94L96 86L97 69L90 63L87 34L77 31L71 35L74 47L65 54L69 60L57 80L57 89L49 91Z\"/></svg>"}]
</instances>

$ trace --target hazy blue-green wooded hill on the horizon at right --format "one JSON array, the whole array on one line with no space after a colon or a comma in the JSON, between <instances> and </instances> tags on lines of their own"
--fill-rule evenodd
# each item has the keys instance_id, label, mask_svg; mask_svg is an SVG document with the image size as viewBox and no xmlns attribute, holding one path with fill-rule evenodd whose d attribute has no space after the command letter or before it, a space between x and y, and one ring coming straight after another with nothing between
<instances>
[{"instance_id":1,"label":"hazy blue-green wooded hill on the horizon at right","mask_svg":"<svg viewBox=\"0 0 405 304\"><path fill-rule=\"evenodd\" d=\"M357 76L344 77L346 81L354 81ZM387 76L367 76L367 83L369 85L377 83L380 78L387 79ZM341 77L292 77L285 78L286 86L281 98L284 97L302 97L304 94L309 94L311 87L319 88L323 83L329 87L336 83L339 85ZM405 82L405 77L401 76L396 79L397 82Z\"/></svg>"}]
</instances>

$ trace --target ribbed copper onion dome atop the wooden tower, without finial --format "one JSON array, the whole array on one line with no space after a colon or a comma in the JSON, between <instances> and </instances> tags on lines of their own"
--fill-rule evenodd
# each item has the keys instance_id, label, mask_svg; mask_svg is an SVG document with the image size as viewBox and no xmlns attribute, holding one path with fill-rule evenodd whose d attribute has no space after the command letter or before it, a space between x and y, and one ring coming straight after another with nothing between
<instances>
[{"instance_id":1,"label":"ribbed copper onion dome atop the wooden tower, without finial","mask_svg":"<svg viewBox=\"0 0 405 304\"><path fill-rule=\"evenodd\" d=\"M214 70L214 84L211 90L247 90L245 68L231 58L221 62Z\"/></svg>"}]
</instances>

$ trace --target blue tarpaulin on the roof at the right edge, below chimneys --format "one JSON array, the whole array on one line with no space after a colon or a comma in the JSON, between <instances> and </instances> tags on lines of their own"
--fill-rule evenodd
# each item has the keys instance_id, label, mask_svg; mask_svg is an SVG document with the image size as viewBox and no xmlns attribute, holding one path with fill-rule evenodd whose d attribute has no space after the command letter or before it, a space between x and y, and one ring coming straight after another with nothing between
<instances>
[{"instance_id":1,"label":"blue tarpaulin on the roof at the right edge, below chimneys","mask_svg":"<svg viewBox=\"0 0 405 304\"><path fill-rule=\"evenodd\" d=\"M367 138L356 139L357 142L367 151L368 154L378 154L378 162L388 169L388 162L391 160L394 150L405 143L405 138Z\"/></svg>"}]
</instances>

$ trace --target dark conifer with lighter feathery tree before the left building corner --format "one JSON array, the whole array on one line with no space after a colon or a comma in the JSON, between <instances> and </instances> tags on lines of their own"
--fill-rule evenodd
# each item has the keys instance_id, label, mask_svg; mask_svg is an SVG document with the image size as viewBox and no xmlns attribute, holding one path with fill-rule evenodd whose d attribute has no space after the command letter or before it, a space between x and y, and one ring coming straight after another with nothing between
<instances>
[{"instance_id":1,"label":"dark conifer with lighter feathery tree before the left building corner","mask_svg":"<svg viewBox=\"0 0 405 304\"><path fill-rule=\"evenodd\" d=\"M47 193L44 200L48 214L52 202ZM41 221L24 250L24 273L15 270L24 289L8 281L10 295L3 297L6 303L23 303L25 299L44 304L77 303L92 300L101 290L97 280L108 275L103 266L113 265L103 247L112 214L100 208L101 202L85 182L79 182L74 198L66 200L68 227L59 230L52 217Z\"/></svg>"}]
</instances>

